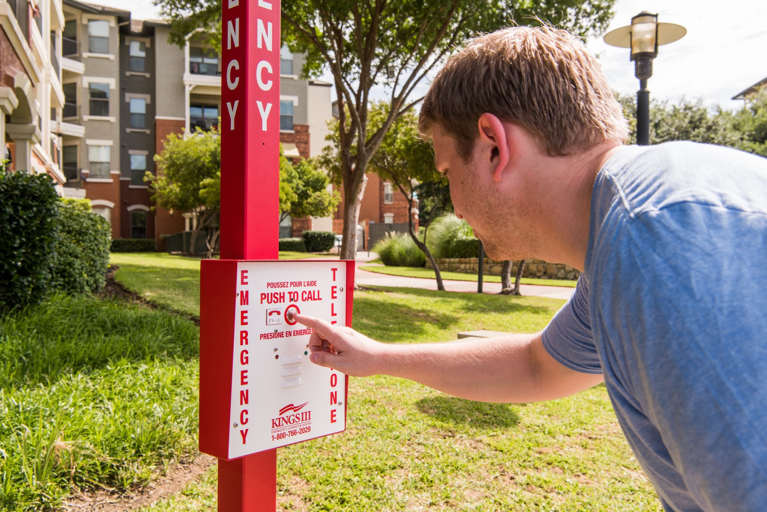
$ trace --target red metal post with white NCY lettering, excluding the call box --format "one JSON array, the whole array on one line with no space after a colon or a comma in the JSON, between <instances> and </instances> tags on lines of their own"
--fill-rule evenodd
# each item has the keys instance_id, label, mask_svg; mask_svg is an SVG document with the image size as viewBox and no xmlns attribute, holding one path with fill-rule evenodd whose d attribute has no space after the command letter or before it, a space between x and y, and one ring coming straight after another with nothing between
<instances>
[{"instance_id":1,"label":"red metal post with white NCY lettering, excluding the call box","mask_svg":"<svg viewBox=\"0 0 767 512\"><path fill-rule=\"evenodd\" d=\"M280 0L222 0L221 258L278 258ZM219 512L275 510L277 452L219 459Z\"/></svg>"}]
</instances>

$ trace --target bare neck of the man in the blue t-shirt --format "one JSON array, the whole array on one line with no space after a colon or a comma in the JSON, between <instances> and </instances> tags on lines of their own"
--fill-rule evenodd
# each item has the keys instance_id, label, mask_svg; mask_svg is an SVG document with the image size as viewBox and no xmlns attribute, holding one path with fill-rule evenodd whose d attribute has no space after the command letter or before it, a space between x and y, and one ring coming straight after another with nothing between
<instances>
[{"instance_id":1,"label":"bare neck of the man in the blue t-shirt","mask_svg":"<svg viewBox=\"0 0 767 512\"><path fill-rule=\"evenodd\" d=\"M591 192L594 179L621 143L606 142L586 153L555 157L547 174L551 181L540 208L541 250L539 258L568 264L583 271L588 251Z\"/></svg>"}]
</instances>

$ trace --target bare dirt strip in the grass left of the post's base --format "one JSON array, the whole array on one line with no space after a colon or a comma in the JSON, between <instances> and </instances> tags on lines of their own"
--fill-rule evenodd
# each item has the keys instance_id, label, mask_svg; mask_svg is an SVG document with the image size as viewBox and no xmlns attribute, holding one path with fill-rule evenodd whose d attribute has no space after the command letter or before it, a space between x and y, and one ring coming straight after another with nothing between
<instances>
[{"instance_id":1,"label":"bare dirt strip in the grass left of the post's base","mask_svg":"<svg viewBox=\"0 0 767 512\"><path fill-rule=\"evenodd\" d=\"M116 491L80 493L64 502L61 510L67 512L123 512L137 510L163 497L179 493L186 484L195 480L206 469L216 464L216 458L199 455L189 462L173 464L164 477L153 480L137 492L118 494Z\"/></svg>"}]
</instances>

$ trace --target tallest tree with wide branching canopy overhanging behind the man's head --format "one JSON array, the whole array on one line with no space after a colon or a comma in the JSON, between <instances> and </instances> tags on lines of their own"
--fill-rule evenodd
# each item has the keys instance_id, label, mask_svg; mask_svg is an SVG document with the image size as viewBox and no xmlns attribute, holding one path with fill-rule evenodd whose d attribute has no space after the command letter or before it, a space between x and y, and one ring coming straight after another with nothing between
<instances>
[{"instance_id":1,"label":"tallest tree with wide branching canopy overhanging behind the man's head","mask_svg":"<svg viewBox=\"0 0 767 512\"><path fill-rule=\"evenodd\" d=\"M207 27L220 48L221 0L155 0L171 20L171 40L183 44L193 28ZM531 16L587 35L607 28L614 0L307 0L281 2L281 38L306 54L302 76L333 74L339 111L340 182L344 193L341 258L354 259L365 172L392 123L420 99L421 80L472 35ZM538 20L532 20L538 23ZM369 126L370 90L390 90L390 110Z\"/></svg>"}]
</instances>

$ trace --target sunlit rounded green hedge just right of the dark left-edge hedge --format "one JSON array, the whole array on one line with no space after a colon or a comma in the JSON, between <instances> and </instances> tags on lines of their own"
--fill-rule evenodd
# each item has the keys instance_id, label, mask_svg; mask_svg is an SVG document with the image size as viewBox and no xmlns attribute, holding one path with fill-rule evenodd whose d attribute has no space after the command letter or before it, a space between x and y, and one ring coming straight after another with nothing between
<instances>
[{"instance_id":1,"label":"sunlit rounded green hedge just right of the dark left-edge hedge","mask_svg":"<svg viewBox=\"0 0 767 512\"><path fill-rule=\"evenodd\" d=\"M104 287L112 229L87 199L62 199L58 207L56 257L51 287L71 294Z\"/></svg>"}]
</instances>

